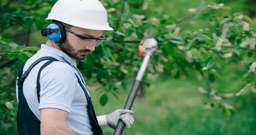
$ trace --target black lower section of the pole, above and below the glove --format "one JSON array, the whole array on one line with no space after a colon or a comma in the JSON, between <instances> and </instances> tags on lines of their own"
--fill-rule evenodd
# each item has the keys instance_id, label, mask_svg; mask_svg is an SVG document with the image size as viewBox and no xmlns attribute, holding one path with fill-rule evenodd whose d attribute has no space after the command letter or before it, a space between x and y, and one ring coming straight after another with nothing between
<instances>
[{"instance_id":1,"label":"black lower section of the pole, above and below the glove","mask_svg":"<svg viewBox=\"0 0 256 135\"><path fill-rule=\"evenodd\" d=\"M133 83L133 87L132 90L130 91L130 94L127 98L127 101L125 103L125 106L123 109L127 109L127 110L131 110L132 105L133 105L133 101L136 98L138 89L139 89L139 85L140 85L141 80L135 80ZM117 123L117 127L116 130L114 132L114 135L121 135L123 132L123 128L124 128L125 124L123 123L122 120L119 119L118 123Z\"/></svg>"}]
</instances>

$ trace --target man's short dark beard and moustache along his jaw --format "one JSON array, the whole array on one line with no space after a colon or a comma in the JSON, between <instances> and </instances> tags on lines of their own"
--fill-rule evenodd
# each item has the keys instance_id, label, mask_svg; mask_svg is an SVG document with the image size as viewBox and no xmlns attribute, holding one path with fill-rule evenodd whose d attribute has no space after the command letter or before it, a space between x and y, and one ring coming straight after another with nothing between
<instances>
[{"instance_id":1,"label":"man's short dark beard and moustache along his jaw","mask_svg":"<svg viewBox=\"0 0 256 135\"><path fill-rule=\"evenodd\" d=\"M70 57L76 59L76 60L83 60L86 58L86 55L81 55L82 57L79 57L78 52L90 52L89 49L83 49L75 52L75 49L69 44L68 39L66 38L64 42L59 44L61 50L65 52Z\"/></svg>"}]
</instances>

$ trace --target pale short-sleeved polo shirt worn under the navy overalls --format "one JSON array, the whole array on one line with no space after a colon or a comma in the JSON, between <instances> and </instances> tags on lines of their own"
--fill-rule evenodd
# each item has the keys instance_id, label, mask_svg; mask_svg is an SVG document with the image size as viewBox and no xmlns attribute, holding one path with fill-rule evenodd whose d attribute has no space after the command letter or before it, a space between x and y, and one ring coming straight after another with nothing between
<instances>
[{"instance_id":1,"label":"pale short-sleeved polo shirt worn under the navy overalls","mask_svg":"<svg viewBox=\"0 0 256 135\"><path fill-rule=\"evenodd\" d=\"M80 76L83 84L85 82L73 58L58 49L42 44L41 49L27 60L23 68L23 73L34 61L44 56L51 56L60 61L54 61L41 72L40 104L38 104L36 94L37 73L40 67L48 60L39 62L30 71L23 84L23 93L30 109L39 120L39 109L57 108L65 110L70 113L67 118L67 125L76 135L92 135L92 127L86 108L86 96L77 82L75 73L77 76ZM16 95L18 100L17 83Z\"/></svg>"}]
</instances>

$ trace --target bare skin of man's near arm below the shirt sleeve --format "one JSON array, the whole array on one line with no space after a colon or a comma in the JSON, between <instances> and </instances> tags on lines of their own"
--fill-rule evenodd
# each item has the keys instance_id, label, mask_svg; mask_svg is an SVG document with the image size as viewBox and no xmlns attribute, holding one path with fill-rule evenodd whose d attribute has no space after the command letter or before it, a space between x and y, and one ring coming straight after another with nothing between
<instances>
[{"instance_id":1,"label":"bare skin of man's near arm below the shirt sleeve","mask_svg":"<svg viewBox=\"0 0 256 135\"><path fill-rule=\"evenodd\" d=\"M41 113L41 135L75 135L67 126L68 112L55 108L43 108Z\"/></svg>"}]
</instances>

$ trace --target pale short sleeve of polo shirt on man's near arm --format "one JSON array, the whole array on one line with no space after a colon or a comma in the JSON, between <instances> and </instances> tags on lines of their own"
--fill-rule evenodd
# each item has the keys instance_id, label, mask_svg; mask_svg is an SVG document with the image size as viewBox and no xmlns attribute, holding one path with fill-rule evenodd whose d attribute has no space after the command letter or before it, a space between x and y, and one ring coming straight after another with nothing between
<instances>
[{"instance_id":1,"label":"pale short sleeve of polo shirt on man's near arm","mask_svg":"<svg viewBox=\"0 0 256 135\"><path fill-rule=\"evenodd\" d=\"M40 104L42 108L57 108L70 113L77 79L67 68L56 68L40 79Z\"/></svg>"}]
</instances>

